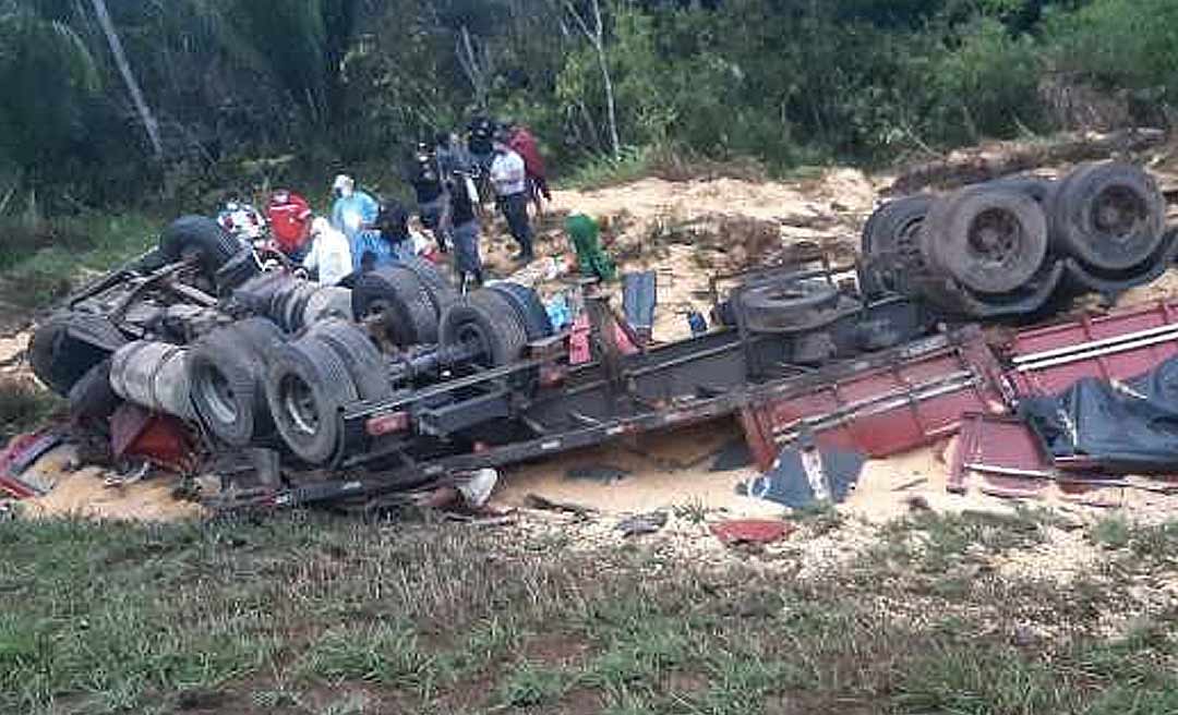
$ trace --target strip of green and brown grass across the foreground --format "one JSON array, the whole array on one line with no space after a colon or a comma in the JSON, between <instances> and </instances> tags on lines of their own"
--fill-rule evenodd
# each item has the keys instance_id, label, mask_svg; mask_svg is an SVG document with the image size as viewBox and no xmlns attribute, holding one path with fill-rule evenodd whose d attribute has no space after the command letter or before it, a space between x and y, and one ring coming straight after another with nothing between
<instances>
[{"instance_id":1,"label":"strip of green and brown grass across the foreground","mask_svg":"<svg viewBox=\"0 0 1178 715\"><path fill-rule=\"evenodd\" d=\"M913 525L1013 548L1026 519ZM1031 519L1039 529L1038 522ZM977 542L974 542L977 543ZM922 562L869 578L304 514L0 523L2 713L1173 713L1173 618ZM935 617L934 617L935 616ZM1015 642L1012 634L1037 635ZM1054 636L1051 634L1060 634Z\"/></svg>"}]
</instances>

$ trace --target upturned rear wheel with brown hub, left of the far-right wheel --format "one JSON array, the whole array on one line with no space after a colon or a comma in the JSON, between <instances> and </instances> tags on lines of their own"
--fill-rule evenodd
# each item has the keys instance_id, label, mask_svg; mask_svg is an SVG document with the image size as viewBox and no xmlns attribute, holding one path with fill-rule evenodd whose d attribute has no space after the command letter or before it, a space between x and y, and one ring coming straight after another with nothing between
<instances>
[{"instance_id":1,"label":"upturned rear wheel with brown hub, left of the far-right wheel","mask_svg":"<svg viewBox=\"0 0 1178 715\"><path fill-rule=\"evenodd\" d=\"M926 263L980 293L1008 293L1047 258L1047 217L1031 197L985 184L937 200L921 226Z\"/></svg>"}]
</instances>

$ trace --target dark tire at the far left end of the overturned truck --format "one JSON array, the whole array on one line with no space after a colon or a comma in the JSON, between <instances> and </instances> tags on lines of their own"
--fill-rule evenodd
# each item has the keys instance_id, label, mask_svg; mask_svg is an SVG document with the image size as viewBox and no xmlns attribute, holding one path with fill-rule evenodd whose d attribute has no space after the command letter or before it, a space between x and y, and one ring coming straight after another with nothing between
<instances>
[{"instance_id":1,"label":"dark tire at the far left end of the overturned truck","mask_svg":"<svg viewBox=\"0 0 1178 715\"><path fill-rule=\"evenodd\" d=\"M68 397L84 375L126 342L119 329L102 316L62 312L37 326L28 358L38 379Z\"/></svg>"}]
</instances>

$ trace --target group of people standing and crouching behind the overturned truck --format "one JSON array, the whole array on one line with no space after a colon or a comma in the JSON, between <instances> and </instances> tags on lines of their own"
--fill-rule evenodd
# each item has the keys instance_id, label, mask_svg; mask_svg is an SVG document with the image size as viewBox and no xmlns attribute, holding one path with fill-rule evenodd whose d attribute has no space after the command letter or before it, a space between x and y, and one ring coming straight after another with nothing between
<instances>
[{"instance_id":1,"label":"group of people standing and crouching behind the overturned truck","mask_svg":"<svg viewBox=\"0 0 1178 715\"><path fill-rule=\"evenodd\" d=\"M529 205L536 204L538 212L551 193L538 145L525 127L478 117L465 141L442 133L434 146L418 145L405 178L416 194L422 226L441 252L452 256L463 291L484 280L479 218L484 199L490 198L483 196L488 188L518 244L516 260L535 258ZM274 192L266 208L276 247L317 273L319 283L346 285L357 273L396 264L423 249L410 231L409 211L399 203L378 201L345 174L336 177L332 196L327 217L316 217L303 197L285 190ZM249 226L256 218L239 205L229 206L220 220L243 239L253 238Z\"/></svg>"}]
</instances>

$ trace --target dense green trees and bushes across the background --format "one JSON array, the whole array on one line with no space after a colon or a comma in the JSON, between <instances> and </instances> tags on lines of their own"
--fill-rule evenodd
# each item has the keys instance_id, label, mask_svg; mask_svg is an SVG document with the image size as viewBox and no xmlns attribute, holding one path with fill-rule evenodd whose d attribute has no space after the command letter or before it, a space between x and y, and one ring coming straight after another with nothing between
<instances>
[{"instance_id":1,"label":"dense green trees and bushes across the background","mask_svg":"<svg viewBox=\"0 0 1178 715\"><path fill-rule=\"evenodd\" d=\"M479 105L532 125L565 172L653 146L871 163L1157 125L1178 4L0 0L0 214L191 208L358 165L393 190L408 147Z\"/></svg>"}]
</instances>

